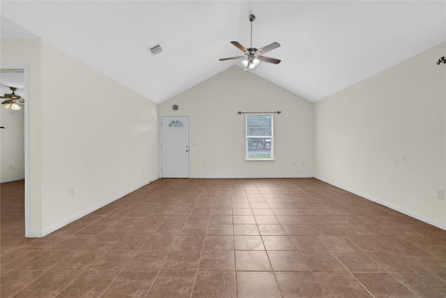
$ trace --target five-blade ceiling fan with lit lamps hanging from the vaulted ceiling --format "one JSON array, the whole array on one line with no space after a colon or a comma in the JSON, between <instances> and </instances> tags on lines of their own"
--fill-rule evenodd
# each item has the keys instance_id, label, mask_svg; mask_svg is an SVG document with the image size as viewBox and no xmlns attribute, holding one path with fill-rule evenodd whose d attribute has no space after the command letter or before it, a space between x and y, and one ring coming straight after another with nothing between
<instances>
[{"instance_id":1,"label":"five-blade ceiling fan with lit lamps hanging from the vaulted ceiling","mask_svg":"<svg viewBox=\"0 0 446 298\"><path fill-rule=\"evenodd\" d=\"M259 65L260 61L265 61L272 64L280 63L279 59L263 56L264 53L269 52L270 50L274 50L277 47L280 47L279 43L274 42L271 43L270 45L262 47L261 49L256 49L255 47L252 47L252 21L254 20L256 20L256 16L249 15L249 22L251 22L251 45L249 48L246 49L245 47L243 47L243 45L240 45L238 41L231 41L231 43L235 45L240 51L244 52L245 55L238 57L221 58L219 59L220 61L243 58L242 65L245 66L245 70L256 68L256 66Z\"/></svg>"}]
</instances>

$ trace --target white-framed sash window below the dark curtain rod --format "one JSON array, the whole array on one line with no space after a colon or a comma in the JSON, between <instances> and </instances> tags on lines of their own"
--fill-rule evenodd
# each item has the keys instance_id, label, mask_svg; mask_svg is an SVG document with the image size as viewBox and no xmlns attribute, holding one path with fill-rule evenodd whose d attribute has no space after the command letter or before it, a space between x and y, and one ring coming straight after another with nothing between
<instances>
[{"instance_id":1,"label":"white-framed sash window below the dark curtain rod","mask_svg":"<svg viewBox=\"0 0 446 298\"><path fill-rule=\"evenodd\" d=\"M272 161L272 114L246 115L246 160Z\"/></svg>"}]
</instances>

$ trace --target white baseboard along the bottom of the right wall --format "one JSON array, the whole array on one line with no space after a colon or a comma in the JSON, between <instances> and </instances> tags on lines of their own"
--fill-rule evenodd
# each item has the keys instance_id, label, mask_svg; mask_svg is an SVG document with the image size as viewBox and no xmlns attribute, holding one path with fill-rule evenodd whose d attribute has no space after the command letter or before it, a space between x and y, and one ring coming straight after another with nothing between
<instances>
[{"instance_id":1,"label":"white baseboard along the bottom of the right wall","mask_svg":"<svg viewBox=\"0 0 446 298\"><path fill-rule=\"evenodd\" d=\"M438 221L433 221L431 218L428 218L428 217L426 217L426 216L424 216L422 214L419 214L419 213L414 212L412 210L409 210L409 209L406 209L404 207L398 206L396 204L392 204L390 202L386 202L384 200L380 200L378 198L375 198L372 195L368 195L367 193L362 193L361 191L357 191L357 190L355 190L353 188L350 188L348 186L344 186L344 185L341 185L341 184L334 183L334 182L329 181L327 179L324 179L322 177L318 177L318 175L315 175L314 178L316 178L318 180L321 180L323 182L326 182L328 184L331 184L332 186L336 186L338 188L344 189L344 191L348 191L349 193L354 193L355 195L359 195L360 197L362 197L364 199L371 200L372 202L376 202L376 203L381 204L381 205L383 205L385 207L388 207L390 209L398 211L398 212L400 212L402 214L406 214L407 216L416 218L417 220L422 221L424 223L429 223L429 225L433 225L433 226L435 226L437 228L440 228L442 230L446 230L446 223L440 223Z\"/></svg>"}]
</instances>

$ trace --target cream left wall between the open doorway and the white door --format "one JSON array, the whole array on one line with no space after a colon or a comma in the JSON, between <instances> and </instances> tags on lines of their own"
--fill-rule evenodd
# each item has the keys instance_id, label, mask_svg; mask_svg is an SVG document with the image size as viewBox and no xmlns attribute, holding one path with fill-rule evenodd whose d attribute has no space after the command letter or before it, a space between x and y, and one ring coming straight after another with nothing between
<instances>
[{"instance_id":1,"label":"cream left wall between the open doorway and the white door","mask_svg":"<svg viewBox=\"0 0 446 298\"><path fill-rule=\"evenodd\" d=\"M15 54L17 47L28 50ZM2 64L26 62L31 73L31 236L158 178L155 103L43 40L2 40L1 50ZM37 58L30 61L30 52Z\"/></svg>"}]
</instances>

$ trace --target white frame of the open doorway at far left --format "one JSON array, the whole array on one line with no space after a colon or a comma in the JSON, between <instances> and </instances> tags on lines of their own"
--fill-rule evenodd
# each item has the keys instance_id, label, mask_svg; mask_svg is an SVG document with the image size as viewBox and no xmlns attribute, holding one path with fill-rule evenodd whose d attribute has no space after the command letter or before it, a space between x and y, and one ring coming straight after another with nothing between
<instances>
[{"instance_id":1,"label":"white frame of the open doorway at far left","mask_svg":"<svg viewBox=\"0 0 446 298\"><path fill-rule=\"evenodd\" d=\"M23 71L24 78L24 98L29 102L29 64L0 64L0 70ZM25 166L25 183L24 183L24 221L25 230L24 237L31 237L31 177L30 177L30 158L29 158L29 103L24 105L24 166Z\"/></svg>"}]
</instances>

